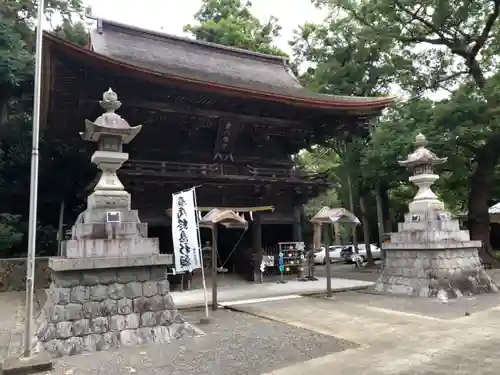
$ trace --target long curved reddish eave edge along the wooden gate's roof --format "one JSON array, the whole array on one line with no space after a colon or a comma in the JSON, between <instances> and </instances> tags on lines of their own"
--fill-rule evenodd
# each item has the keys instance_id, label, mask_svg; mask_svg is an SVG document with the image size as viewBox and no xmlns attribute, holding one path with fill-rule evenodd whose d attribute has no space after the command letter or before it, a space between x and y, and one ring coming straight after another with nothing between
<instances>
[{"instance_id":1,"label":"long curved reddish eave edge along the wooden gate's roof","mask_svg":"<svg viewBox=\"0 0 500 375\"><path fill-rule=\"evenodd\" d=\"M318 98L303 98L296 97L292 95L283 95L277 93L271 93L261 90L251 90L244 89L240 87L234 87L224 84L219 84L215 82L202 81L199 79L187 78L176 76L172 74L164 74L155 72L151 69L137 67L127 62L117 60L115 58L107 57L98 53L93 52L90 49L80 47L76 44L68 42L61 39L49 32L44 32L44 39L49 41L49 45L64 50L65 52L70 52L74 56L83 59L90 59L92 63L101 62L109 67L119 67L128 73L139 75L145 79L163 82L177 82L181 84L188 84L196 86L198 89L204 87L209 91L224 91L225 94L231 93L238 96L253 97L256 99L277 101L285 104L310 107L310 108L322 108L322 109L336 109L336 110L361 110L375 112L380 111L396 101L394 97L373 97L373 98L357 98L357 97L342 97L342 96L328 96L325 95L324 99ZM361 100L360 100L361 99Z\"/></svg>"}]
</instances>

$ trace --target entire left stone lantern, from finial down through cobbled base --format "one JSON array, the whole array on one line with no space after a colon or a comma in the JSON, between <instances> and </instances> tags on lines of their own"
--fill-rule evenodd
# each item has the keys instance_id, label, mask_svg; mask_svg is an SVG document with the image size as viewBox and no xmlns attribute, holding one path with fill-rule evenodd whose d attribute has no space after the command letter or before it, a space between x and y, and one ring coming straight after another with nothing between
<instances>
[{"instance_id":1,"label":"entire left stone lantern, from finial down through cobbled base","mask_svg":"<svg viewBox=\"0 0 500 375\"><path fill-rule=\"evenodd\" d=\"M98 144L91 160L101 175L62 256L49 260L52 284L37 320L36 345L54 357L165 343L189 328L169 294L172 256L147 237L117 176L128 159L122 146L141 126L115 113L121 103L111 89L100 105L105 113L86 121L81 136Z\"/></svg>"}]
</instances>

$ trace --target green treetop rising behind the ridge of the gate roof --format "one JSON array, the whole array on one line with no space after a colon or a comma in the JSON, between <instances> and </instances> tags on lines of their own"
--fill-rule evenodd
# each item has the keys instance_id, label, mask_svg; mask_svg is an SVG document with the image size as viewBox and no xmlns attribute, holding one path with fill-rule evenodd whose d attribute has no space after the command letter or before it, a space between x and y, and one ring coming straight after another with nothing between
<instances>
[{"instance_id":1,"label":"green treetop rising behind the ridge of the gate roof","mask_svg":"<svg viewBox=\"0 0 500 375\"><path fill-rule=\"evenodd\" d=\"M206 42L284 55L274 44L281 31L278 19L271 17L267 23L261 23L251 8L250 1L203 0L194 16L198 24L186 25L184 31Z\"/></svg>"}]
</instances>

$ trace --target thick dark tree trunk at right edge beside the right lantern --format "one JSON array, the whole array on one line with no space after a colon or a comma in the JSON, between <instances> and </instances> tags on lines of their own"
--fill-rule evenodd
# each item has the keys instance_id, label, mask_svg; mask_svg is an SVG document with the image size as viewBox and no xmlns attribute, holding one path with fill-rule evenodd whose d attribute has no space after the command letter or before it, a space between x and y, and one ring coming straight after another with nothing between
<instances>
[{"instance_id":1,"label":"thick dark tree trunk at right edge beside the right lantern","mask_svg":"<svg viewBox=\"0 0 500 375\"><path fill-rule=\"evenodd\" d=\"M490 218L488 199L490 196L492 177L498 163L500 153L496 143L499 137L491 138L476 157L476 170L471 178L468 201L468 228L472 240L483 242L479 255L485 263L497 263L490 243Z\"/></svg>"}]
</instances>

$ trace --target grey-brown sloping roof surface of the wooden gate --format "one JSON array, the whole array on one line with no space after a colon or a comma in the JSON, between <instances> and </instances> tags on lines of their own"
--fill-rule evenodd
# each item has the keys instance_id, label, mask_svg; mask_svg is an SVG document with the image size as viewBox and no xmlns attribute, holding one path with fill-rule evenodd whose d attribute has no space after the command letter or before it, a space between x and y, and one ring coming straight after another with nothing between
<instances>
[{"instance_id":1,"label":"grey-brown sloping roof surface of the wooden gate","mask_svg":"<svg viewBox=\"0 0 500 375\"><path fill-rule=\"evenodd\" d=\"M91 32L95 53L167 76L295 98L384 108L394 99L334 96L304 88L288 58L153 32L99 20Z\"/></svg>"}]
</instances>

